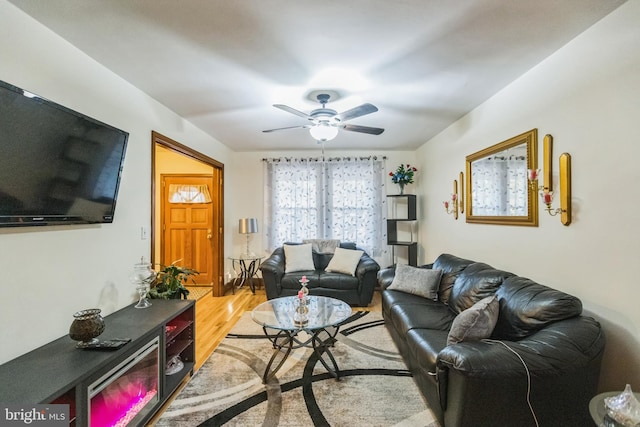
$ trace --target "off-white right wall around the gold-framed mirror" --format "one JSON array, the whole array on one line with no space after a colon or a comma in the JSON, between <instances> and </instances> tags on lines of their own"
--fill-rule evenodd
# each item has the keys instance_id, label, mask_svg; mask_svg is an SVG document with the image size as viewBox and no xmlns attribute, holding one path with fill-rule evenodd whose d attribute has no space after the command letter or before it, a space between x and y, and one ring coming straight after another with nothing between
<instances>
[{"instance_id":1,"label":"off-white right wall around the gold-framed mirror","mask_svg":"<svg viewBox=\"0 0 640 427\"><path fill-rule=\"evenodd\" d=\"M426 209L420 241L431 261L453 253L580 297L604 326L600 388L640 390L640 2L628 2L427 142L418 158ZM539 227L467 224L440 200L465 156L538 129L572 157L573 222L540 210ZM434 162L433 159L437 159Z\"/></svg>"}]
</instances>

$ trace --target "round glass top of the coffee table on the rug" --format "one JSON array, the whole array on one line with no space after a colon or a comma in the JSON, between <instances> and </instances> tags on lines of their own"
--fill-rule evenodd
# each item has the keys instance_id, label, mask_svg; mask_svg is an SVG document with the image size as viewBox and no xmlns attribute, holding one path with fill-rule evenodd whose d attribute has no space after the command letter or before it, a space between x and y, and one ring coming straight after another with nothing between
<instances>
[{"instance_id":1,"label":"round glass top of the coffee table on the rug","mask_svg":"<svg viewBox=\"0 0 640 427\"><path fill-rule=\"evenodd\" d=\"M322 329L335 326L351 316L351 307L336 298L309 295L309 323L296 326L293 315L298 305L298 297L275 298L258 305L253 309L251 318L260 325L280 330Z\"/></svg>"}]
</instances>

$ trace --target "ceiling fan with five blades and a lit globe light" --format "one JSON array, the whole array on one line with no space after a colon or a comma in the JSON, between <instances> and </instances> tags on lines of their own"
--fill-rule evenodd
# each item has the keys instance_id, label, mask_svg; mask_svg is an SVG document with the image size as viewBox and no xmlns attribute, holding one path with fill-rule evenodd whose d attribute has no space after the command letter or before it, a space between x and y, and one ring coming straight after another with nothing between
<instances>
[{"instance_id":1,"label":"ceiling fan with five blades and a lit globe light","mask_svg":"<svg viewBox=\"0 0 640 427\"><path fill-rule=\"evenodd\" d=\"M317 97L317 100L322 104L322 108L317 108L311 111L309 114L291 108L288 105L274 104L273 106L286 111L296 116L305 118L311 123L301 126L289 126L277 129L263 130L263 132L275 132L286 129L309 129L311 136L318 142L331 141L338 135L339 129L344 129L350 132L368 133L370 135L380 135L384 132L382 128L374 128L369 126L351 125L345 123L348 120L355 119L357 117L364 116L366 114L375 113L378 108L372 104L362 104L354 107L350 110L338 113L336 110L326 108L327 102L329 102L330 95L321 93Z\"/></svg>"}]
</instances>

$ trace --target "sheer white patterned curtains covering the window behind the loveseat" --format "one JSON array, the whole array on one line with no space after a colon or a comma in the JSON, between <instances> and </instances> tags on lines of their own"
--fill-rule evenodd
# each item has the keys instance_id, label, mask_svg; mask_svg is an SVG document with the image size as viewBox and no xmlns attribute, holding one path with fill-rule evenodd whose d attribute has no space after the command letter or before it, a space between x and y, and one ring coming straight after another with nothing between
<instances>
[{"instance_id":1,"label":"sheer white patterned curtains covering the window behind the loveseat","mask_svg":"<svg viewBox=\"0 0 640 427\"><path fill-rule=\"evenodd\" d=\"M265 160L265 237L284 242L340 239L369 255L384 245L384 164L376 157Z\"/></svg>"}]
</instances>

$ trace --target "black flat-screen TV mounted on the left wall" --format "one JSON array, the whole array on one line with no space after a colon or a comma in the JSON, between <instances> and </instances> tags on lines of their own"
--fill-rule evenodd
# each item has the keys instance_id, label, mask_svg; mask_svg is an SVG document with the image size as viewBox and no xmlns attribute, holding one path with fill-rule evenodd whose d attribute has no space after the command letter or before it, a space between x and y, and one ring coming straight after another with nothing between
<instances>
[{"instance_id":1,"label":"black flat-screen TV mounted on the left wall","mask_svg":"<svg viewBox=\"0 0 640 427\"><path fill-rule=\"evenodd\" d=\"M0 81L0 227L113 222L128 138Z\"/></svg>"}]
</instances>

